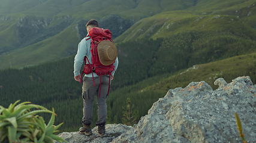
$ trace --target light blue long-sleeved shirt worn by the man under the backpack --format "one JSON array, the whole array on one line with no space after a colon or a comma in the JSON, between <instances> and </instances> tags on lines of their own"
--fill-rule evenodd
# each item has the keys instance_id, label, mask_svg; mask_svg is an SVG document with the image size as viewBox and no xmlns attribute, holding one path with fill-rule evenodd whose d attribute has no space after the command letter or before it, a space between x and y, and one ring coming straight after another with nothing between
<instances>
[{"instance_id":1,"label":"light blue long-sleeved shirt worn by the man under the backpack","mask_svg":"<svg viewBox=\"0 0 256 143\"><path fill-rule=\"evenodd\" d=\"M88 37L83 38L82 41L78 45L77 54L74 58L74 76L78 76L80 74L80 69L83 64L83 59L85 56L87 56L90 63L92 63L92 55L91 55L91 39L86 41ZM115 70L112 72L112 75L114 76L116 69L118 69L118 58L116 58L115 63L113 64L115 66ZM92 77L92 73L85 74L86 77ZM97 74L94 74L94 76L98 76Z\"/></svg>"}]
</instances>

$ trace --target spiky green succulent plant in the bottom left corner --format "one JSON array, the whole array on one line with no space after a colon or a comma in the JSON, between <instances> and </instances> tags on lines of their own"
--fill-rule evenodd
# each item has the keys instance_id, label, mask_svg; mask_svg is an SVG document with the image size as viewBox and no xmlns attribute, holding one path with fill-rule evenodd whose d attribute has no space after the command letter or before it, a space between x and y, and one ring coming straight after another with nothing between
<instances>
[{"instance_id":1,"label":"spiky green succulent plant in the bottom left corner","mask_svg":"<svg viewBox=\"0 0 256 143\"><path fill-rule=\"evenodd\" d=\"M18 102L10 104L8 108L0 106L0 142L67 142L54 134L62 125L53 125L56 115L54 110L47 110L31 102ZM38 113L52 114L47 125Z\"/></svg>"}]
</instances>

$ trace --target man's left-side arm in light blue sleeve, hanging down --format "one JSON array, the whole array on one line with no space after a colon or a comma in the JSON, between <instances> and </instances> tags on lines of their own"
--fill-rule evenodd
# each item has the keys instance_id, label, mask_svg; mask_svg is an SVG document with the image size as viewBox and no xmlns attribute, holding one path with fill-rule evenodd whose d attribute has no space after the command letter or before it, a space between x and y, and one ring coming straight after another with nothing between
<instances>
[{"instance_id":1,"label":"man's left-side arm in light blue sleeve, hanging down","mask_svg":"<svg viewBox=\"0 0 256 143\"><path fill-rule=\"evenodd\" d=\"M86 41L83 39L77 49L77 54L74 58L74 77L77 77L80 75L80 69L83 64L83 59L85 58L87 54L87 46L86 46Z\"/></svg>"}]
</instances>

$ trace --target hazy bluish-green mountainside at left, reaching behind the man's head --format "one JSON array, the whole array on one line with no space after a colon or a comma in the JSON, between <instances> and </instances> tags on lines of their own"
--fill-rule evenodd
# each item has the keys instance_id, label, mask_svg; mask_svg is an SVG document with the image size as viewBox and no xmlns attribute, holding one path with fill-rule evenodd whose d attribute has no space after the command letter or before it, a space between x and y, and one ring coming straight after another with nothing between
<instances>
[{"instance_id":1,"label":"hazy bluish-green mountainside at left, reaching behind the man's head","mask_svg":"<svg viewBox=\"0 0 256 143\"><path fill-rule=\"evenodd\" d=\"M0 69L6 69L74 54L86 35L85 23L90 18L97 18L100 26L112 30L116 38L140 18L184 9L192 2L173 5L167 0L1 0L0 4L0 60L8 63ZM16 57L22 59L19 64Z\"/></svg>"}]
</instances>

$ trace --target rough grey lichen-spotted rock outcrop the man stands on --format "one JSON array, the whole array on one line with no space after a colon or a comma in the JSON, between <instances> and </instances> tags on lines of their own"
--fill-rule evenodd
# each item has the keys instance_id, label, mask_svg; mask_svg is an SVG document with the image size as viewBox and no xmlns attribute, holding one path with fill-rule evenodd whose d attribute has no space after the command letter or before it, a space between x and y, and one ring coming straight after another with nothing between
<instances>
[{"instance_id":1,"label":"rough grey lichen-spotted rock outcrop the man stands on","mask_svg":"<svg viewBox=\"0 0 256 143\"><path fill-rule=\"evenodd\" d=\"M76 140L72 133L60 136L67 141L73 138L73 142L242 142L234 117L237 112L245 138L256 141L256 85L249 76L237 77L231 83L217 79L215 84L219 85L216 90L206 82L170 89L137 125L125 126L114 136L92 135L82 140L80 137ZM107 125L107 133L113 135L118 126L124 125Z\"/></svg>"}]
</instances>

